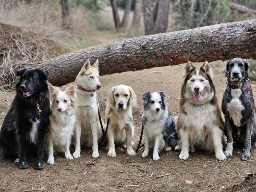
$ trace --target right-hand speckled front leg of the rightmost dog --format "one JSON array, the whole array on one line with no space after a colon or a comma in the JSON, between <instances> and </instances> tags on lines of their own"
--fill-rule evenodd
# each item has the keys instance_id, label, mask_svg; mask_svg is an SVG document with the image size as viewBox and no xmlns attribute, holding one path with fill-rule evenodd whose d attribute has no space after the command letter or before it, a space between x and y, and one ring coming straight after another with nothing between
<instances>
[{"instance_id":1,"label":"right-hand speckled front leg of the rightmost dog","mask_svg":"<svg viewBox=\"0 0 256 192\"><path fill-rule=\"evenodd\" d=\"M244 153L242 155L242 160L247 161L250 159L250 151L252 145L252 130L253 130L254 117L248 118L246 121L246 135L244 141Z\"/></svg>"}]
</instances>

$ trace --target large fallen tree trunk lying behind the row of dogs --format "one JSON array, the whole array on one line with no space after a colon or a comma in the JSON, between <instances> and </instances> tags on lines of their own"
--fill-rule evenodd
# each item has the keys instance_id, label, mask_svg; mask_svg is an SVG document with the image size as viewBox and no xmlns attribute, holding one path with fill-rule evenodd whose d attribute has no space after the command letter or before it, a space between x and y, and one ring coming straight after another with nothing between
<instances>
[{"instance_id":1,"label":"large fallen tree trunk lying behind the row of dogs","mask_svg":"<svg viewBox=\"0 0 256 192\"><path fill-rule=\"evenodd\" d=\"M125 39L75 51L37 64L49 82L73 82L85 60L99 59L100 75L192 62L256 59L256 20Z\"/></svg>"}]
</instances>

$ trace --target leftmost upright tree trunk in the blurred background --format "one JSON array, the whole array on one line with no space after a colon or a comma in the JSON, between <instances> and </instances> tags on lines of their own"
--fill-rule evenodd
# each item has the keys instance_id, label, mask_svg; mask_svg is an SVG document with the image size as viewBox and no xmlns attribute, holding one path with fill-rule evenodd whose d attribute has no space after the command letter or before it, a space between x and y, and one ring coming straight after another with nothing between
<instances>
[{"instance_id":1,"label":"leftmost upright tree trunk in the blurred background","mask_svg":"<svg viewBox=\"0 0 256 192\"><path fill-rule=\"evenodd\" d=\"M61 0L61 19L62 19L62 29L72 30L69 0Z\"/></svg>"}]
</instances>

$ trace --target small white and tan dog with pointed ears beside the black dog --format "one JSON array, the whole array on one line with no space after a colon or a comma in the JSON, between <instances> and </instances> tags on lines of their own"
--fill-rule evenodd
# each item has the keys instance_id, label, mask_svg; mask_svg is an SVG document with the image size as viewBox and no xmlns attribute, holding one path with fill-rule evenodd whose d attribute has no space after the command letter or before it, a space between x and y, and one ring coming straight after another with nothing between
<instances>
[{"instance_id":1,"label":"small white and tan dog with pointed ears beside the black dog","mask_svg":"<svg viewBox=\"0 0 256 192\"><path fill-rule=\"evenodd\" d=\"M54 164L54 152L65 153L66 159L73 159L70 154L71 137L75 123L75 90L74 85L61 91L59 87L50 85L51 110L50 126L47 133L48 161Z\"/></svg>"}]
</instances>

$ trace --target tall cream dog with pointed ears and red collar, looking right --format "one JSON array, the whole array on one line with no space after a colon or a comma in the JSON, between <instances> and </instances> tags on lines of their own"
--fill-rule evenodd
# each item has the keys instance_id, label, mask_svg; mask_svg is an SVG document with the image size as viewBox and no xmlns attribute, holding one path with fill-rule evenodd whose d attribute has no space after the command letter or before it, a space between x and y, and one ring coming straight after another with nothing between
<instances>
[{"instance_id":1,"label":"tall cream dog with pointed ears and red collar, looking right","mask_svg":"<svg viewBox=\"0 0 256 192\"><path fill-rule=\"evenodd\" d=\"M75 79L76 110L75 110L75 152L74 158L80 157L81 145L92 147L92 156L98 157L98 140L103 133L98 118L98 103L95 90L99 83L98 60L91 66L87 60Z\"/></svg>"}]
</instances>

